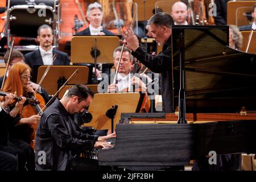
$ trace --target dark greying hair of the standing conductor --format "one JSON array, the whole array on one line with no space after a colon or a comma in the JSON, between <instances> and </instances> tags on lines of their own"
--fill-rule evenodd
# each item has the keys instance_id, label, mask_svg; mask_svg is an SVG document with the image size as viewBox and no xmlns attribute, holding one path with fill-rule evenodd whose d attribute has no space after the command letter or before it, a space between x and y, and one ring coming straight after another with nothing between
<instances>
[{"instance_id":1,"label":"dark greying hair of the standing conductor","mask_svg":"<svg viewBox=\"0 0 256 182\"><path fill-rule=\"evenodd\" d=\"M174 20L168 13L156 13L148 20L148 25L155 24L155 26L166 26L171 28L174 25Z\"/></svg>"}]
</instances>

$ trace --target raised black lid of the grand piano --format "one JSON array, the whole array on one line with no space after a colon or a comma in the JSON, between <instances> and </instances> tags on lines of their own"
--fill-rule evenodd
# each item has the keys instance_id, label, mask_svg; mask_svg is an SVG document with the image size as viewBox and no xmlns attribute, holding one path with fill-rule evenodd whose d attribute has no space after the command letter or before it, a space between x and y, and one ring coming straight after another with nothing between
<instances>
[{"instance_id":1,"label":"raised black lid of the grand piano","mask_svg":"<svg viewBox=\"0 0 256 182\"><path fill-rule=\"evenodd\" d=\"M228 47L228 26L173 26L174 106L179 98L179 39L184 31L186 111L256 110L256 55Z\"/></svg>"}]
</instances>

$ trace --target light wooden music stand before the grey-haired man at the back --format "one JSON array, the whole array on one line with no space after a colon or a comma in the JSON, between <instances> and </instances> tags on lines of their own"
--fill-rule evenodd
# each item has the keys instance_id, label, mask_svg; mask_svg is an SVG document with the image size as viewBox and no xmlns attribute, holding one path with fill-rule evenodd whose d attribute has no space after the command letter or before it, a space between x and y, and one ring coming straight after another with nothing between
<instances>
[{"instance_id":1,"label":"light wooden music stand before the grey-haired man at the back","mask_svg":"<svg viewBox=\"0 0 256 182\"><path fill-rule=\"evenodd\" d=\"M113 52L118 46L118 36L73 36L71 61L94 64L96 70L97 63L113 63ZM96 78L94 76L94 83L97 83Z\"/></svg>"}]
</instances>

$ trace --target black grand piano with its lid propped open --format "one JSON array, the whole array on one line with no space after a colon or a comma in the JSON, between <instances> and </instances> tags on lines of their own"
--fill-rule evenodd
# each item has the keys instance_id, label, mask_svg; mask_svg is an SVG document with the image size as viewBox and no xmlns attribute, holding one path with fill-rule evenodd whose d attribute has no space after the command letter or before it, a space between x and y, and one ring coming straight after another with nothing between
<instances>
[{"instance_id":1,"label":"black grand piano with its lid propped open","mask_svg":"<svg viewBox=\"0 0 256 182\"><path fill-rule=\"evenodd\" d=\"M177 108L183 52L187 123L177 124L177 110L122 113L114 147L98 152L99 164L160 169L184 166L212 152L254 154L256 55L228 47L228 39L228 26L174 26L170 92Z\"/></svg>"}]
</instances>

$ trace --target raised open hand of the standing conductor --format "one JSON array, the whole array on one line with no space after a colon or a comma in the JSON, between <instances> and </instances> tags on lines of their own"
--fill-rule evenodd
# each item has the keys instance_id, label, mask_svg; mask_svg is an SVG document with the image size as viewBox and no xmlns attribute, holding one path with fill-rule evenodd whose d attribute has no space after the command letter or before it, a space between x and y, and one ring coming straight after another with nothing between
<instances>
[{"instance_id":1,"label":"raised open hand of the standing conductor","mask_svg":"<svg viewBox=\"0 0 256 182\"><path fill-rule=\"evenodd\" d=\"M133 29L127 27L127 30L122 34L123 38L125 39L120 40L122 44L125 44L127 48L131 49L133 52L139 47L139 40L136 35L133 34Z\"/></svg>"}]
</instances>

